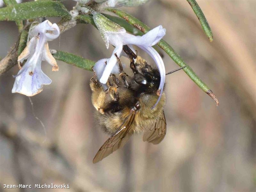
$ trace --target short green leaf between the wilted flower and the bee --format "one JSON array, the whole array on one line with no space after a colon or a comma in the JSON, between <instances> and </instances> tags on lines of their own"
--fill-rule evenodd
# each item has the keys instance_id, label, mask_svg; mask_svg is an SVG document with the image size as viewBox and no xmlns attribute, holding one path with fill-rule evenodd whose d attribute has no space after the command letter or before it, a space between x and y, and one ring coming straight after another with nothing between
<instances>
[{"instance_id":1,"label":"short green leaf between the wilted flower and the bee","mask_svg":"<svg viewBox=\"0 0 256 192\"><path fill-rule=\"evenodd\" d=\"M92 67L94 66L95 62L89 59L84 59L83 57L74 55L72 53L64 52L64 51L57 51L56 53L52 54L52 56L60 61L64 61L68 64L74 65L76 67L92 71Z\"/></svg>"}]
</instances>

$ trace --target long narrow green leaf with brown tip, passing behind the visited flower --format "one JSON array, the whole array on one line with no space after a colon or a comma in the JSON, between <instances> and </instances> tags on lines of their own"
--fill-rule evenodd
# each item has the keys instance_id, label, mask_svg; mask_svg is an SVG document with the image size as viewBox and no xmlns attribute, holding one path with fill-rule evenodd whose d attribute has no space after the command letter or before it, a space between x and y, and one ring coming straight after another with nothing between
<instances>
[{"instance_id":1,"label":"long narrow green leaf with brown tip, passing behind the visited flower","mask_svg":"<svg viewBox=\"0 0 256 192\"><path fill-rule=\"evenodd\" d=\"M106 8L107 11L113 12L119 17L125 19L128 23L130 23L132 26L138 28L141 32L144 34L147 33L150 28L142 23L137 18L133 17L132 15L123 12L118 9L114 8ZM162 48L171 58L175 61L180 67L187 66L183 70L185 73L192 79L205 93L207 93L215 102L216 105L219 105L219 101L214 95L214 93L210 90L210 88L196 75L196 73L190 68L186 62L180 57L178 53L176 53L171 45L169 45L167 42L165 42L163 39L160 40L157 44L160 48Z\"/></svg>"}]
</instances>

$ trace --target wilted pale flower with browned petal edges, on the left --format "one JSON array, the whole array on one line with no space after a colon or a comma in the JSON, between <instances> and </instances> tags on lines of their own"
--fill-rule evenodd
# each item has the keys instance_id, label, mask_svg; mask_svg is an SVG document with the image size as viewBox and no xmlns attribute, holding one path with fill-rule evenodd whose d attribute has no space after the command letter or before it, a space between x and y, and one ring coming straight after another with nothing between
<instances>
[{"instance_id":1,"label":"wilted pale flower with browned petal edges, on the left","mask_svg":"<svg viewBox=\"0 0 256 192\"><path fill-rule=\"evenodd\" d=\"M43 85L51 84L52 80L44 74L41 69L42 61L47 61L52 65L52 71L58 71L59 67L56 60L50 53L48 42L56 39L60 35L60 29L56 23L52 24L49 20L33 26L29 31L30 41L26 48L18 57L18 64L24 60L26 63L18 74L14 77L15 82L12 93L18 92L27 96L33 96L43 91Z\"/></svg>"}]
</instances>

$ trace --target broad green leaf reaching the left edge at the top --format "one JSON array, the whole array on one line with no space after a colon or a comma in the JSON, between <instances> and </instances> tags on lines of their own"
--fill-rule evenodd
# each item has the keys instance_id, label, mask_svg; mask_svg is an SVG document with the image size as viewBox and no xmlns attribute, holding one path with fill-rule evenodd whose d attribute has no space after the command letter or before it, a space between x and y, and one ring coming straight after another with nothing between
<instances>
[{"instance_id":1,"label":"broad green leaf reaching the left edge at the top","mask_svg":"<svg viewBox=\"0 0 256 192\"><path fill-rule=\"evenodd\" d=\"M0 20L16 21L38 17L71 19L66 7L57 1L44 0L9 5L0 9Z\"/></svg>"}]
</instances>

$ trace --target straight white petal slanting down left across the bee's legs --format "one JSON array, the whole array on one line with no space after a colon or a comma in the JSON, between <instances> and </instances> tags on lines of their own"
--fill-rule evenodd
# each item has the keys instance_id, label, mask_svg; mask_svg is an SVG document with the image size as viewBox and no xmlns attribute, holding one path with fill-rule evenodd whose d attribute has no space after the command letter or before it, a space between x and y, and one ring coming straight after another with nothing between
<instances>
[{"instance_id":1,"label":"straight white petal slanting down left across the bee's legs","mask_svg":"<svg viewBox=\"0 0 256 192\"><path fill-rule=\"evenodd\" d=\"M106 67L105 67L105 69L103 71L102 76L100 77L100 83L103 83L103 84L107 83L108 77L111 74L111 72L112 72L112 70L115 67L116 62L117 62L115 53L119 57L121 52L122 52L122 50L123 50L123 44L119 44L119 45L116 46L114 52L112 53L110 59L107 62L107 65L106 65Z\"/></svg>"}]
</instances>

